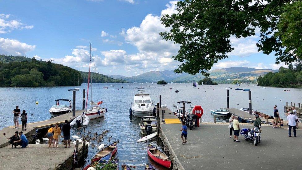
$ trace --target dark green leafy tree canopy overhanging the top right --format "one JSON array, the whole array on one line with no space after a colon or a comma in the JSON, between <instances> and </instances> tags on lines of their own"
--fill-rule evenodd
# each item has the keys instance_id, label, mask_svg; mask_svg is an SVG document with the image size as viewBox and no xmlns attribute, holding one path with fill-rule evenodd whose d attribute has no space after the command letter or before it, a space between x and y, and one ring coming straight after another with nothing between
<instances>
[{"instance_id":1,"label":"dark green leafy tree canopy overhanging the top right","mask_svg":"<svg viewBox=\"0 0 302 170\"><path fill-rule=\"evenodd\" d=\"M162 15L169 32L163 39L180 45L175 60L177 73L209 76L214 63L234 50L230 37L249 37L260 28L256 44L264 54L274 52L276 63L291 63L301 57L301 1L290 0L183 0L177 13Z\"/></svg>"}]
</instances>

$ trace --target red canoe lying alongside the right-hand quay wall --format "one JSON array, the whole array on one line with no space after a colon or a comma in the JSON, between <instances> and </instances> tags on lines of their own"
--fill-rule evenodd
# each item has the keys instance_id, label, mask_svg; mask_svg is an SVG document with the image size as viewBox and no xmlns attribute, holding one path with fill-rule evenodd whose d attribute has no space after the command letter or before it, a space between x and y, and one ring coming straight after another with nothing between
<instances>
[{"instance_id":1,"label":"red canoe lying alongside the right-hand quay wall","mask_svg":"<svg viewBox=\"0 0 302 170\"><path fill-rule=\"evenodd\" d=\"M171 168L172 161L163 151L157 149L152 145L149 145L147 146L147 152L152 160L166 168Z\"/></svg>"}]
</instances>

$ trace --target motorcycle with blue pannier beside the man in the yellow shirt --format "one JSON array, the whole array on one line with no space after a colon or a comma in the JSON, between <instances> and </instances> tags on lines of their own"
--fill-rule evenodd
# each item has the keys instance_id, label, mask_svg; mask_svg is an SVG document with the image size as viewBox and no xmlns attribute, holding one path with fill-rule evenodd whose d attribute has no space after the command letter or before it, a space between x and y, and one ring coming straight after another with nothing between
<instances>
[{"instance_id":1,"label":"motorcycle with blue pannier beside the man in the yellow shirt","mask_svg":"<svg viewBox=\"0 0 302 170\"><path fill-rule=\"evenodd\" d=\"M260 133L261 133L260 127L261 127L261 124L262 123L259 124L259 127L255 127L253 129L243 128L243 129L241 129L240 134L242 136L244 136L244 139L246 141L248 141L248 140L254 141L254 145L257 146L258 143L261 141L261 137L260 137Z\"/></svg>"}]
</instances>

